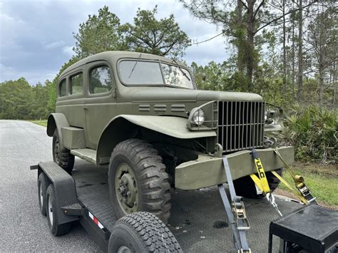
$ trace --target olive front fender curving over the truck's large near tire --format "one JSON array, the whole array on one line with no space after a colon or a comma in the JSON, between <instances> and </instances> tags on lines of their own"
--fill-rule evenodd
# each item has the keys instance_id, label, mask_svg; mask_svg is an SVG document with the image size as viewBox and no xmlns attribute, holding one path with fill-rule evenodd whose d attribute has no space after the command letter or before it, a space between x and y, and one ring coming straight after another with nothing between
<instances>
[{"instance_id":1,"label":"olive front fender curving over the truck's large near tire","mask_svg":"<svg viewBox=\"0 0 338 253\"><path fill-rule=\"evenodd\" d=\"M189 130L186 118L173 116L118 115L108 123L101 133L96 153L97 165L108 163L115 146L123 140L132 138L135 130L140 127L178 139L216 136L214 130Z\"/></svg>"}]
</instances>

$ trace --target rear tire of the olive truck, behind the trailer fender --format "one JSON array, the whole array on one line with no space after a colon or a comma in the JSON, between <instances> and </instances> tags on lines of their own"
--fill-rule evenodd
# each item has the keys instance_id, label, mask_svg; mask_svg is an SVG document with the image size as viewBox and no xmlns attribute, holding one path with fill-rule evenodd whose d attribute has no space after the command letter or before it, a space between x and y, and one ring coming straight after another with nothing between
<instances>
[{"instance_id":1,"label":"rear tire of the olive truck, behind the trailer fender","mask_svg":"<svg viewBox=\"0 0 338 253\"><path fill-rule=\"evenodd\" d=\"M71 151L61 147L60 139L58 138L58 130L56 129L53 135L53 161L56 162L63 170L66 170L69 174L73 170L74 156L71 155Z\"/></svg>"}]
</instances>

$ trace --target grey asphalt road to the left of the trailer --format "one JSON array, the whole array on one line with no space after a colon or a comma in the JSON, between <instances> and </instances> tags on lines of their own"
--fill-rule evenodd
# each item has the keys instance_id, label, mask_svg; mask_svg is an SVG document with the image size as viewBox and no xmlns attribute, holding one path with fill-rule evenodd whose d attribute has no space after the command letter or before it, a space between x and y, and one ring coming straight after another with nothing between
<instances>
[{"instance_id":1,"label":"grey asphalt road to the left of the trailer","mask_svg":"<svg viewBox=\"0 0 338 253\"><path fill-rule=\"evenodd\" d=\"M51 140L43 126L0 120L0 252L100 251L80 224L54 237L39 212L37 172L29 166L52 160Z\"/></svg>"}]
</instances>

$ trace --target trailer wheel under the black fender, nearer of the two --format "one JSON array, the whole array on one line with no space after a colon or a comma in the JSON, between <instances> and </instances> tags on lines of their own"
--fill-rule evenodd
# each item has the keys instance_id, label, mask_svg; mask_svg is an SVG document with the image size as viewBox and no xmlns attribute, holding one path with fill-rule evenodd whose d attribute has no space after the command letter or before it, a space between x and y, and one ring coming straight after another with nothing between
<instances>
[{"instance_id":1,"label":"trailer wheel under the black fender, nearer of the two","mask_svg":"<svg viewBox=\"0 0 338 253\"><path fill-rule=\"evenodd\" d=\"M49 185L46 192L46 212L48 227L52 234L60 236L67 234L71 229L71 223L58 224L58 216L56 215L56 197L53 184Z\"/></svg>"}]
</instances>

